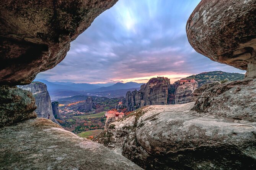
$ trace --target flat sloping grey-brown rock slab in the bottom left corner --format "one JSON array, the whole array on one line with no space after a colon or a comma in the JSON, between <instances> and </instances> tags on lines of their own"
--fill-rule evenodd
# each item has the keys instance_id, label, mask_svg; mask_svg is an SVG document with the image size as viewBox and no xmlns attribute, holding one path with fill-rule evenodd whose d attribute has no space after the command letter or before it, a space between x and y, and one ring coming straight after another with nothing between
<instances>
[{"instance_id":1,"label":"flat sloping grey-brown rock slab in the bottom left corner","mask_svg":"<svg viewBox=\"0 0 256 170\"><path fill-rule=\"evenodd\" d=\"M0 128L0 136L2 169L142 170L103 145L43 118Z\"/></svg>"}]
</instances>

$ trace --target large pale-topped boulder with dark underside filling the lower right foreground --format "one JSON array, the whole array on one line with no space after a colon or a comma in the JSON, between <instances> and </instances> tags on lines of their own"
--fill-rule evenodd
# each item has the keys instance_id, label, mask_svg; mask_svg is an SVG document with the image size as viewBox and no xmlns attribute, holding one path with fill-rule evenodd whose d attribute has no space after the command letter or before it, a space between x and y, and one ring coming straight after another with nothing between
<instances>
[{"instance_id":1,"label":"large pale-topped boulder with dark underside filling the lower right foreground","mask_svg":"<svg viewBox=\"0 0 256 170\"><path fill-rule=\"evenodd\" d=\"M256 122L189 111L193 105L140 108L94 140L145 169L255 169Z\"/></svg>"}]
</instances>

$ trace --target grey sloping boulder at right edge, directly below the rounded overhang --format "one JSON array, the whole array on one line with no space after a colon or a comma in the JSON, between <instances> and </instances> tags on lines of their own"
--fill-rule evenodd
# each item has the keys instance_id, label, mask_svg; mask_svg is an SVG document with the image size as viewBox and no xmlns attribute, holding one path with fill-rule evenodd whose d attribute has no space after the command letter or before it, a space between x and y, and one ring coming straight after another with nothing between
<instances>
[{"instance_id":1,"label":"grey sloping boulder at right edge, directly below the rounded overhang","mask_svg":"<svg viewBox=\"0 0 256 170\"><path fill-rule=\"evenodd\" d=\"M215 85L202 93L193 110L256 121L256 79Z\"/></svg>"}]
</instances>

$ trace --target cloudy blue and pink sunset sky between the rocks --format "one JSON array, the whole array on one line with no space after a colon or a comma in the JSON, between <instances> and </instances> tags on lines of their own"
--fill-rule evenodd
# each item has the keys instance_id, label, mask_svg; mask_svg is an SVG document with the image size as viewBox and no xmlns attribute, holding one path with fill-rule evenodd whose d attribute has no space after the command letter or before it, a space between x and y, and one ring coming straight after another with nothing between
<instances>
[{"instance_id":1,"label":"cloudy blue and pink sunset sky between the rocks","mask_svg":"<svg viewBox=\"0 0 256 170\"><path fill-rule=\"evenodd\" d=\"M186 22L200 0L119 0L71 43L65 59L36 79L74 83L171 82L206 71L245 73L197 53Z\"/></svg>"}]
</instances>

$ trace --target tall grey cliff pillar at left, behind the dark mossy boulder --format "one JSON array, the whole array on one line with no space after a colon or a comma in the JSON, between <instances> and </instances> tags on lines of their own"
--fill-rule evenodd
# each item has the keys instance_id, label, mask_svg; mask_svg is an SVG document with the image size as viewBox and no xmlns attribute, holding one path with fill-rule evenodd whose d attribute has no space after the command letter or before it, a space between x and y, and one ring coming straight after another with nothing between
<instances>
[{"instance_id":1,"label":"tall grey cliff pillar at left, behind the dark mossy boulder","mask_svg":"<svg viewBox=\"0 0 256 170\"><path fill-rule=\"evenodd\" d=\"M22 85L19 88L30 91L36 99L36 114L38 117L48 118L58 123L52 113L51 98L47 91L47 86L42 82L32 82L29 85Z\"/></svg>"}]
</instances>

